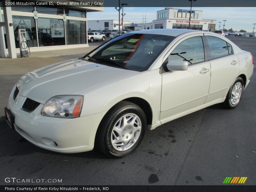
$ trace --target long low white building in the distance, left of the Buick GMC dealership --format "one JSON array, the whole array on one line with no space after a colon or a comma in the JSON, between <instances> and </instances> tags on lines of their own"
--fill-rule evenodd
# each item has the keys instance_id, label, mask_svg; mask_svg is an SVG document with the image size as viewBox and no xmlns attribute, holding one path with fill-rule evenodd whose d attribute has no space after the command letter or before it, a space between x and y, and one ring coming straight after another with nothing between
<instances>
[{"instance_id":1,"label":"long low white building in the distance, left of the Buick GMC dealership","mask_svg":"<svg viewBox=\"0 0 256 192\"><path fill-rule=\"evenodd\" d=\"M122 30L122 23L124 26L127 24L138 24L136 22L120 21L120 30ZM88 30L103 30L103 29L118 30L119 20L88 20Z\"/></svg>"}]
</instances>

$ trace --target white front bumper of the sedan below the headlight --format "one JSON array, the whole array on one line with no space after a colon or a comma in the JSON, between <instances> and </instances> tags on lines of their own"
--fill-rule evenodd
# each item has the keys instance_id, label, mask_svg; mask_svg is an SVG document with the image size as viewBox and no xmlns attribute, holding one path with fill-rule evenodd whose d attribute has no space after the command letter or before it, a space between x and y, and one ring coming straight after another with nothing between
<instances>
[{"instance_id":1,"label":"white front bumper of the sedan below the headlight","mask_svg":"<svg viewBox=\"0 0 256 192\"><path fill-rule=\"evenodd\" d=\"M9 97L8 109L15 116L14 128L34 145L60 153L78 153L90 151L101 119L106 112L72 119L47 117L41 115L43 104L28 113L21 109L26 97L18 95L13 101L13 92Z\"/></svg>"}]
</instances>

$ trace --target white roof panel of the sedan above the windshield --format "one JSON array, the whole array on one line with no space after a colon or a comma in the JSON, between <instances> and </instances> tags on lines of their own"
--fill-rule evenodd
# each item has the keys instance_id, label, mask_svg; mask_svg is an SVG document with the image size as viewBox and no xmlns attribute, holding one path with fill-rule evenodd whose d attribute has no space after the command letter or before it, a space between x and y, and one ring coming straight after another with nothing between
<instances>
[{"instance_id":1,"label":"white roof panel of the sedan above the windshield","mask_svg":"<svg viewBox=\"0 0 256 192\"><path fill-rule=\"evenodd\" d=\"M139 30L132 31L131 33L139 33L139 34L155 34L155 35L168 35L168 36L179 36L188 32L198 32L198 30L192 29L147 29L147 30ZM202 31L200 31L202 33ZM205 31L204 31L205 32Z\"/></svg>"}]
</instances>

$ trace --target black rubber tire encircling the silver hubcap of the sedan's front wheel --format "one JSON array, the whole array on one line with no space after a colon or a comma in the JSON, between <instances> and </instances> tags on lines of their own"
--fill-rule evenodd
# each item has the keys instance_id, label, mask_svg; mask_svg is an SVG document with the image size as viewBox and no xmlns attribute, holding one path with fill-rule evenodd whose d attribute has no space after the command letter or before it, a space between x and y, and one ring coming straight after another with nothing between
<instances>
[{"instance_id":1,"label":"black rubber tire encircling the silver hubcap of the sedan's front wheel","mask_svg":"<svg viewBox=\"0 0 256 192\"><path fill-rule=\"evenodd\" d=\"M126 151L118 151L111 144L112 129L113 129L116 121L120 117L122 117L123 115L128 114L128 113L134 113L140 117L140 121L141 121L140 137L137 140L137 142L130 149L128 149ZM147 124L146 116L145 116L144 112L142 111L142 109L138 106L129 106L129 107L123 108L120 111L118 111L115 114L115 116L109 121L108 125L106 125L107 131L105 133L104 140L105 140L105 147L106 147L106 149L108 149L109 155L115 156L115 157L123 157L123 156L126 156L127 154L131 153L132 151L134 151L140 145L140 143L144 137L145 130L146 130L146 124Z\"/></svg>"}]
</instances>

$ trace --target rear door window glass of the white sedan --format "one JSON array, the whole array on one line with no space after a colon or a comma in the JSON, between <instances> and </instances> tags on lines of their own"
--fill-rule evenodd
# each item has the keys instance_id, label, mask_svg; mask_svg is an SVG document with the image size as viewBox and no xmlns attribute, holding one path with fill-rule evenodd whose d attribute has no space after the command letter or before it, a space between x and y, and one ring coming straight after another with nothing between
<instances>
[{"instance_id":1,"label":"rear door window glass of the white sedan","mask_svg":"<svg viewBox=\"0 0 256 192\"><path fill-rule=\"evenodd\" d=\"M213 36L206 36L206 39L209 44L210 59L228 55L228 45L226 41Z\"/></svg>"}]
</instances>

